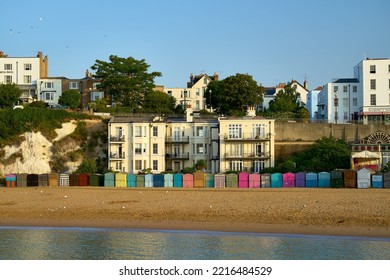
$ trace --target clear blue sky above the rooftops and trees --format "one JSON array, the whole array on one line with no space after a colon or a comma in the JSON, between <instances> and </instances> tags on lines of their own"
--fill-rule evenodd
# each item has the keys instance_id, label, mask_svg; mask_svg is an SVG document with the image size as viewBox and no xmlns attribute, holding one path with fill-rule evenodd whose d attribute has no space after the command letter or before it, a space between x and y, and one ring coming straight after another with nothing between
<instances>
[{"instance_id":1,"label":"clear blue sky above the rooftops and trees","mask_svg":"<svg viewBox=\"0 0 390 280\"><path fill-rule=\"evenodd\" d=\"M111 54L145 59L156 84L190 73L250 74L264 86L305 76L310 89L390 58L388 0L8 1L0 50L49 57L49 75L81 78Z\"/></svg>"}]
</instances>

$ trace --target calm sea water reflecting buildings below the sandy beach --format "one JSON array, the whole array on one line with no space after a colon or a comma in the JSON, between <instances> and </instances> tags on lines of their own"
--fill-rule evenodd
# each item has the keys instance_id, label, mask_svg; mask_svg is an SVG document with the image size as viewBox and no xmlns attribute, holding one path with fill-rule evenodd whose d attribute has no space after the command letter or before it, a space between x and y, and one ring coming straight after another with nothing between
<instances>
[{"instance_id":1,"label":"calm sea water reflecting buildings below the sandy beach","mask_svg":"<svg viewBox=\"0 0 390 280\"><path fill-rule=\"evenodd\" d=\"M0 227L2 260L389 260L389 238Z\"/></svg>"}]
</instances>

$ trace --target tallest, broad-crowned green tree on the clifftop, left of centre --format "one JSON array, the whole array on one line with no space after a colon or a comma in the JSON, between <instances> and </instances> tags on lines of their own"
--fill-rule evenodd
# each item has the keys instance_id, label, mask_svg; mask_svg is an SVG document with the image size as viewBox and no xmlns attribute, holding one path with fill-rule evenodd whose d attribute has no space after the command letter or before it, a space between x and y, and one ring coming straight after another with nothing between
<instances>
[{"instance_id":1,"label":"tallest, broad-crowned green tree on the clifftop, left of centre","mask_svg":"<svg viewBox=\"0 0 390 280\"><path fill-rule=\"evenodd\" d=\"M148 73L150 65L144 59L110 55L109 60L96 60L91 67L95 71L94 78L100 80L99 88L123 106L133 110L142 107L145 95L155 87L154 78L160 77L161 73Z\"/></svg>"}]
</instances>

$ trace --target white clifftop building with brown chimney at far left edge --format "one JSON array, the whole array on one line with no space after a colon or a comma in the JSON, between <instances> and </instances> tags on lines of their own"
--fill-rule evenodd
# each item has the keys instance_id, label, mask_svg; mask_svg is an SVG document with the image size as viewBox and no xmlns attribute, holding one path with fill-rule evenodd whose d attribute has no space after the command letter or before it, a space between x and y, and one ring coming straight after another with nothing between
<instances>
[{"instance_id":1,"label":"white clifftop building with brown chimney at far left edge","mask_svg":"<svg viewBox=\"0 0 390 280\"><path fill-rule=\"evenodd\" d=\"M37 81L47 74L48 58L42 52L36 57L8 57L0 52L0 83L18 85L23 91L22 101L38 99Z\"/></svg>"}]
</instances>

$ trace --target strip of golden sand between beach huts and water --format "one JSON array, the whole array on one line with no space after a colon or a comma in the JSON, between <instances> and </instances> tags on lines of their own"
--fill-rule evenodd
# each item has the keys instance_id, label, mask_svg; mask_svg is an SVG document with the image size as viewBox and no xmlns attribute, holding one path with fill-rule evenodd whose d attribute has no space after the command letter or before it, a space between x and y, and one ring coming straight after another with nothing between
<instances>
[{"instance_id":1,"label":"strip of golden sand between beach huts and water","mask_svg":"<svg viewBox=\"0 0 390 280\"><path fill-rule=\"evenodd\" d=\"M390 189L4 187L0 226L390 237Z\"/></svg>"}]
</instances>

